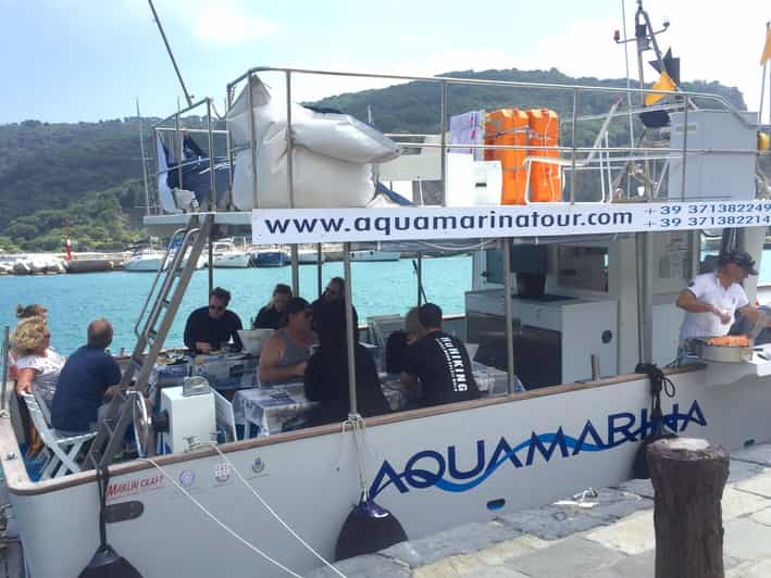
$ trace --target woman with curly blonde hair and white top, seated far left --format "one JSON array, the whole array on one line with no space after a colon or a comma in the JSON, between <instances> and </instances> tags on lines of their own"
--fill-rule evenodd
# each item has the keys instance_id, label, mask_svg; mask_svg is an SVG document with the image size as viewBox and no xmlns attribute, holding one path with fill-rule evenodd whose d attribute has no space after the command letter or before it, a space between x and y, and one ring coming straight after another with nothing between
<instances>
[{"instance_id":1,"label":"woman with curly blonde hair and white top, seated far left","mask_svg":"<svg viewBox=\"0 0 771 578\"><path fill-rule=\"evenodd\" d=\"M36 315L22 319L11 337L18 354L16 360L16 391L37 392L50 407L59 373L66 361L51 349L51 332L43 317Z\"/></svg>"}]
</instances>

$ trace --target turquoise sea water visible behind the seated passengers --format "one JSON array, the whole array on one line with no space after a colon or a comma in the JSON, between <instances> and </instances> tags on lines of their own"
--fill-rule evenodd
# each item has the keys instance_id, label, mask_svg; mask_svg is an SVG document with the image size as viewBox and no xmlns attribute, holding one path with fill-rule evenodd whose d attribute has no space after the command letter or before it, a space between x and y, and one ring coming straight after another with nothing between
<instances>
[{"instance_id":1,"label":"turquoise sea water visible behind the seated passengers","mask_svg":"<svg viewBox=\"0 0 771 578\"><path fill-rule=\"evenodd\" d=\"M331 277L343 277L343 263L325 263L322 289ZM359 323L383 314L406 314L418 301L418 277L412 260L352 263L353 304ZM110 350L130 352L136 343L134 326L156 277L153 273L84 273L77 275L0 277L0 327L16 324L18 303L41 303L48 307L51 345L65 355L86 342L88 323L105 317L114 329ZM231 291L229 309L246 328L268 303L277 282L291 285L291 267L214 269L214 285ZM423 260L423 289L428 301L446 314L463 313L463 293L471 289L471 257L448 256ZM209 275L197 271L165 340L165 347L182 347L188 314L209 303ZM319 297L316 266L300 266L300 296ZM0 338L1 339L1 338Z\"/></svg>"}]
</instances>

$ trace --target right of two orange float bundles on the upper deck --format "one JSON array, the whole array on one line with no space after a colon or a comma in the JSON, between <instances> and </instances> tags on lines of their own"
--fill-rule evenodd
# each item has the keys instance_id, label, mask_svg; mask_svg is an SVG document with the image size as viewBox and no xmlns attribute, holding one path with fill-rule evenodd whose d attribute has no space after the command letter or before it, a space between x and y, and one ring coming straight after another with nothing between
<instances>
[{"instance_id":1,"label":"right of two orange float bundles on the upper deck","mask_svg":"<svg viewBox=\"0 0 771 578\"><path fill-rule=\"evenodd\" d=\"M530 142L536 147L556 147L559 142L559 116L548 109L527 111ZM559 158L559 151L531 150L531 156ZM556 202L562 200L559 166L534 161L530 172L530 200L534 202Z\"/></svg>"}]
</instances>

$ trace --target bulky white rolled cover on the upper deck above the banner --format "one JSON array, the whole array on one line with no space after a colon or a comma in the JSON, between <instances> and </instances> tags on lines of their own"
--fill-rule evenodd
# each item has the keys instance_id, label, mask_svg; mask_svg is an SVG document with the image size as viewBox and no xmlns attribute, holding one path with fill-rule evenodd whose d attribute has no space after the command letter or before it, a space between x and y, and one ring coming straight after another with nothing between
<instances>
[{"instance_id":1,"label":"bulky white rolled cover on the upper deck above the banner","mask_svg":"<svg viewBox=\"0 0 771 578\"><path fill-rule=\"evenodd\" d=\"M252 91L257 141L257 198L260 208L289 206L287 181L286 105L271 99L252 77L227 114L234 144L250 142L248 92ZM295 208L364 206L374 194L370 163L399 155L399 147L377 130L345 114L325 114L291 105L293 183ZM238 210L253 209L252 155L249 148L235 156L233 201Z\"/></svg>"}]
</instances>

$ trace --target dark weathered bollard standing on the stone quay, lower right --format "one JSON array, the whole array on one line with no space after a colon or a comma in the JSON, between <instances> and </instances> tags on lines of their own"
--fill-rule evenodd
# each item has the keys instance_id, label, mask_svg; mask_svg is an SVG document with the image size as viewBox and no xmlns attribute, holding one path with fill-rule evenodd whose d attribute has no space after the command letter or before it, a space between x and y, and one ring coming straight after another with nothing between
<instances>
[{"instance_id":1,"label":"dark weathered bollard standing on the stone quay, lower right","mask_svg":"<svg viewBox=\"0 0 771 578\"><path fill-rule=\"evenodd\" d=\"M672 438L651 443L647 458L656 492L656 578L723 578L720 500L729 451Z\"/></svg>"}]
</instances>

